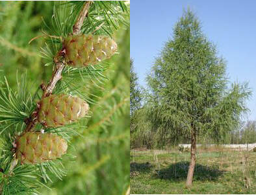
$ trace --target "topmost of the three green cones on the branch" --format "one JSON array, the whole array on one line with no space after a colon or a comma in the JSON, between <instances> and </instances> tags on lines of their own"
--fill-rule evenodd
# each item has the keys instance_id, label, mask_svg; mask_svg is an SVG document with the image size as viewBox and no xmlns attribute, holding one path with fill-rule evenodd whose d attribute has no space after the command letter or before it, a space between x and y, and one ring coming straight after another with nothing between
<instances>
[{"instance_id":1,"label":"topmost of the three green cones on the branch","mask_svg":"<svg viewBox=\"0 0 256 195\"><path fill-rule=\"evenodd\" d=\"M62 52L68 65L84 67L110 58L117 50L114 40L107 36L68 36L63 42Z\"/></svg>"}]
</instances>

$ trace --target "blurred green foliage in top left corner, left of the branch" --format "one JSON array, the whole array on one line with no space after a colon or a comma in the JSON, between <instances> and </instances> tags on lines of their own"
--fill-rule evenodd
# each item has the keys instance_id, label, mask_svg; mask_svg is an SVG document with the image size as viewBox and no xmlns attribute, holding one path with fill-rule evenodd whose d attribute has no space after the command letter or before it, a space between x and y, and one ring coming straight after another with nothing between
<instances>
[{"instance_id":1,"label":"blurred green foliage in top left corner, left of the branch","mask_svg":"<svg viewBox=\"0 0 256 195\"><path fill-rule=\"evenodd\" d=\"M9 86L16 86L16 71L29 75L32 80L31 91L36 91L42 80L51 76L51 67L42 65L39 49L44 45L43 39L29 41L40 36L42 32L42 17L45 21L51 21L53 14L52 2L0 2L0 63L3 75L6 76Z\"/></svg>"}]
</instances>

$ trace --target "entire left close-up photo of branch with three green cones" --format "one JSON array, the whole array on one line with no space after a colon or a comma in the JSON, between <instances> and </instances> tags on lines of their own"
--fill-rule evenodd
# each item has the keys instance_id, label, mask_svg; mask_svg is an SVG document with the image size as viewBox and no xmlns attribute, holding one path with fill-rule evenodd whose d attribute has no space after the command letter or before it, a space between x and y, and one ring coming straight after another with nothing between
<instances>
[{"instance_id":1,"label":"entire left close-up photo of branch with three green cones","mask_svg":"<svg viewBox=\"0 0 256 195\"><path fill-rule=\"evenodd\" d=\"M1 1L0 45L0 194L129 194L130 1Z\"/></svg>"}]
</instances>

